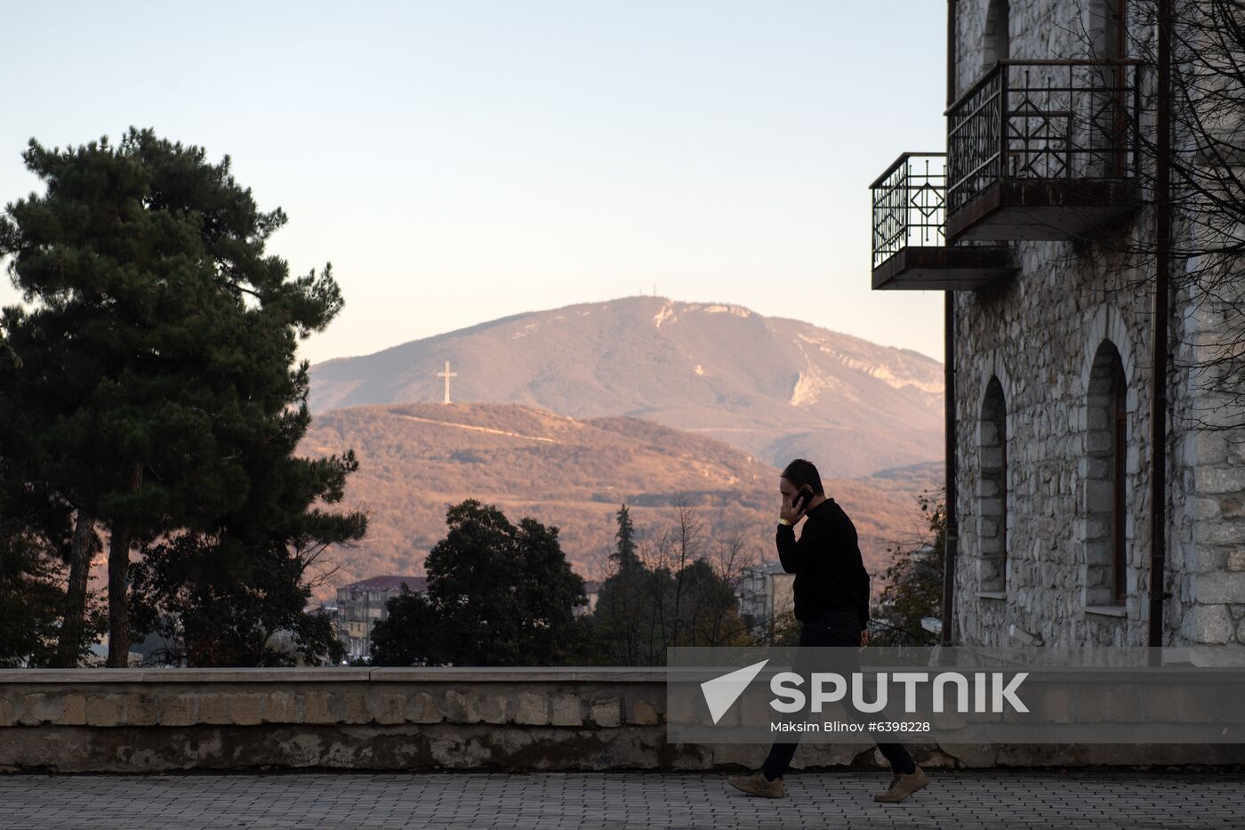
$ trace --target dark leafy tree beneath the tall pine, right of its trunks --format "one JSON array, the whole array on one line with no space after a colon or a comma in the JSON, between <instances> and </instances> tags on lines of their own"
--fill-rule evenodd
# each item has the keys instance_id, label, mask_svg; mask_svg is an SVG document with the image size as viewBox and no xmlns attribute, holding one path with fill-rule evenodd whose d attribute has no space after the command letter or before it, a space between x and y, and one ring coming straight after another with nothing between
<instances>
[{"instance_id":1,"label":"dark leafy tree beneath the tall pine, right of its trunks","mask_svg":"<svg viewBox=\"0 0 1245 830\"><path fill-rule=\"evenodd\" d=\"M156 631L172 647L158 658L188 665L320 665L345 648L327 617L306 613L312 589L332 572L312 576L332 545L364 536L359 512L312 505L339 502L357 469L345 460L253 455L248 501L225 515L214 533L186 532L143 548L133 567L136 628ZM285 632L290 647L276 641Z\"/></svg>"}]
</instances>

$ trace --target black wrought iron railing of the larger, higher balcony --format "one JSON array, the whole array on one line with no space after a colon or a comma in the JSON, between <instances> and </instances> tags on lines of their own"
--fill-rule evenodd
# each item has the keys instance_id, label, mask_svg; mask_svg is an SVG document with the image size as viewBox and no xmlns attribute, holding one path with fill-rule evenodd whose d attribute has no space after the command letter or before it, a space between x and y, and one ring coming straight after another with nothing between
<instances>
[{"instance_id":1,"label":"black wrought iron railing of the larger, higher balcony","mask_svg":"<svg viewBox=\"0 0 1245 830\"><path fill-rule=\"evenodd\" d=\"M947 211L1005 178L1137 172L1137 65L1000 61L947 110Z\"/></svg>"}]
</instances>

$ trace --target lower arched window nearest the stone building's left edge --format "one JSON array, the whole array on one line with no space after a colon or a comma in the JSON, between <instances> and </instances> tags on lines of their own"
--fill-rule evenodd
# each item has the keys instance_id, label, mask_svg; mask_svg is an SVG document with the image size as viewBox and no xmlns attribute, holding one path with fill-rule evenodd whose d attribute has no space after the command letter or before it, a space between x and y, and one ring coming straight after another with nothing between
<instances>
[{"instance_id":1,"label":"lower arched window nearest the stone building's left edge","mask_svg":"<svg viewBox=\"0 0 1245 830\"><path fill-rule=\"evenodd\" d=\"M1007 589L1007 403L998 378L986 384L981 403L977 477L977 538L981 540L981 589Z\"/></svg>"}]
</instances>

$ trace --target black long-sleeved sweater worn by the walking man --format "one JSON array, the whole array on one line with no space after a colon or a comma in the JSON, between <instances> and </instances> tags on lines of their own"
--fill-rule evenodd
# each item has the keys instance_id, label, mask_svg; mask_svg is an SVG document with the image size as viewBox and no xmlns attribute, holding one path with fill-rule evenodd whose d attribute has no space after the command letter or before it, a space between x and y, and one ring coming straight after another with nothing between
<instances>
[{"instance_id":1,"label":"black long-sleeved sweater worn by the walking man","mask_svg":"<svg viewBox=\"0 0 1245 830\"><path fill-rule=\"evenodd\" d=\"M860 560L855 525L843 508L827 498L806 513L804 530L778 526L778 560L796 575L796 619L855 608L860 631L869 623L869 575Z\"/></svg>"}]
</instances>

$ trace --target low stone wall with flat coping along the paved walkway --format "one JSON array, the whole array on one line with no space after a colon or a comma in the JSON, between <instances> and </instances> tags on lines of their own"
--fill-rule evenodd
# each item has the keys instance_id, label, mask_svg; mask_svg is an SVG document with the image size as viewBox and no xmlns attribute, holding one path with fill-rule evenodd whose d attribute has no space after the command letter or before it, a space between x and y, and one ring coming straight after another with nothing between
<instances>
[{"instance_id":1,"label":"low stone wall with flat coping along the paved walkway","mask_svg":"<svg viewBox=\"0 0 1245 830\"><path fill-rule=\"evenodd\" d=\"M0 771L754 768L757 745L670 744L662 669L0 670ZM1241 764L1245 747L911 745L926 766ZM876 766L807 744L797 766Z\"/></svg>"}]
</instances>

